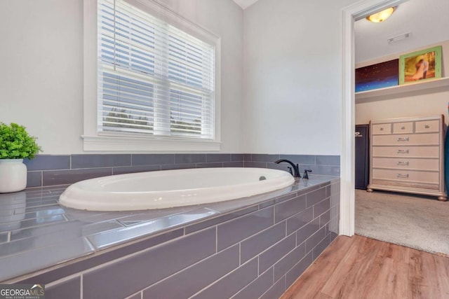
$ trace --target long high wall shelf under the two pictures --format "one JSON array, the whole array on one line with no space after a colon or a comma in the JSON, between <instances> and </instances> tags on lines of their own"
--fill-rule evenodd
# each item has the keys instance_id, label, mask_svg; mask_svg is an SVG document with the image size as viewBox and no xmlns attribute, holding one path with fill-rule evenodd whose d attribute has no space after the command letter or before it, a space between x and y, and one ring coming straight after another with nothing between
<instances>
[{"instance_id":1,"label":"long high wall shelf under the two pictures","mask_svg":"<svg viewBox=\"0 0 449 299\"><path fill-rule=\"evenodd\" d=\"M436 88L449 86L449 77L428 80L424 82L408 83L405 85L396 85L389 88L379 88L377 90L367 90L356 92L357 102L370 102L370 99L388 97L391 95L405 95L408 92L418 92L422 90L432 90ZM362 100L362 101L361 101Z\"/></svg>"}]
</instances>

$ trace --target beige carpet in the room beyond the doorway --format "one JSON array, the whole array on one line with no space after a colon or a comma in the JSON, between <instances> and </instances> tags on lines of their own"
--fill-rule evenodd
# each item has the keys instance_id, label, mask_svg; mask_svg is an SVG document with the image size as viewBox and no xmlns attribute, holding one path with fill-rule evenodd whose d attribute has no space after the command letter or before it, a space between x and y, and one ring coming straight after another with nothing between
<instances>
[{"instance_id":1,"label":"beige carpet in the room beyond the doorway","mask_svg":"<svg viewBox=\"0 0 449 299\"><path fill-rule=\"evenodd\" d=\"M356 235L449 256L449 201L356 190Z\"/></svg>"}]
</instances>

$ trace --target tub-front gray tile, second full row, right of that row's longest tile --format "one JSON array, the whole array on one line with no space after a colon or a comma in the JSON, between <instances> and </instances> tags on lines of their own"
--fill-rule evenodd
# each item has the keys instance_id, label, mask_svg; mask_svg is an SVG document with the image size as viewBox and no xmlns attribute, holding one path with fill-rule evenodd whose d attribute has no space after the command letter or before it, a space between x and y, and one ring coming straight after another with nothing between
<instances>
[{"instance_id":1,"label":"tub-front gray tile, second full row, right of that row's longest tile","mask_svg":"<svg viewBox=\"0 0 449 299\"><path fill-rule=\"evenodd\" d=\"M240 244L241 263L257 256L260 252L286 237L286 222L278 223L267 230L253 235Z\"/></svg>"}]
</instances>

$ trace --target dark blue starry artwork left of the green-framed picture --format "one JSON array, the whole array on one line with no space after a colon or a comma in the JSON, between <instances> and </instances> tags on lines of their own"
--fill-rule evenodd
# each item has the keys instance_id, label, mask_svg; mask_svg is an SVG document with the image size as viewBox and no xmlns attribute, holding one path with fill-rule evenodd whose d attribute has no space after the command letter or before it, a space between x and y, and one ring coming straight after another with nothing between
<instances>
[{"instance_id":1,"label":"dark blue starry artwork left of the green-framed picture","mask_svg":"<svg viewBox=\"0 0 449 299\"><path fill-rule=\"evenodd\" d=\"M399 60L389 60L356 69L356 92L398 85Z\"/></svg>"}]
</instances>

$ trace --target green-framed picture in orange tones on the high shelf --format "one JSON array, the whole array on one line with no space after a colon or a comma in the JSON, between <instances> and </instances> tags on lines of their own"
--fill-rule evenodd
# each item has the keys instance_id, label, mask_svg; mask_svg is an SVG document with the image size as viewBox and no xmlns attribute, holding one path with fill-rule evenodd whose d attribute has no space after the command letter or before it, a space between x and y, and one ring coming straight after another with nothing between
<instances>
[{"instance_id":1,"label":"green-framed picture in orange tones on the high shelf","mask_svg":"<svg viewBox=\"0 0 449 299\"><path fill-rule=\"evenodd\" d=\"M441 78L441 46L399 57L399 85Z\"/></svg>"}]
</instances>

